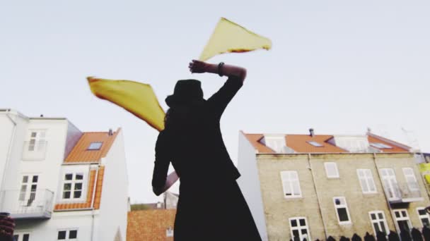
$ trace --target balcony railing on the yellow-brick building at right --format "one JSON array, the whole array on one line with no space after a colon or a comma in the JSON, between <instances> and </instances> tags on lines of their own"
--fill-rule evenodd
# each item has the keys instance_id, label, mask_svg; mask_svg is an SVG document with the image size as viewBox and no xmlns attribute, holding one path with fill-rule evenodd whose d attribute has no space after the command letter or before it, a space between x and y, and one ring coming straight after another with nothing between
<instances>
[{"instance_id":1,"label":"balcony railing on the yellow-brick building at right","mask_svg":"<svg viewBox=\"0 0 430 241\"><path fill-rule=\"evenodd\" d=\"M393 186L393 188L385 187L388 202L392 204L421 202L424 200L418 183L400 183Z\"/></svg>"}]
</instances>

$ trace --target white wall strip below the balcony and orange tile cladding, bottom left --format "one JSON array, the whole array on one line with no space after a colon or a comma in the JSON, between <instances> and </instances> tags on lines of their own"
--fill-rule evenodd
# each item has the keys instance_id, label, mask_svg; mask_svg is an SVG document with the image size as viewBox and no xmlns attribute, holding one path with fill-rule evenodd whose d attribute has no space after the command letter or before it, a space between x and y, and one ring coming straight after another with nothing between
<instances>
[{"instance_id":1,"label":"white wall strip below the balcony and orange tile cladding, bottom left","mask_svg":"<svg viewBox=\"0 0 430 241\"><path fill-rule=\"evenodd\" d=\"M59 230L77 229L78 240L91 240L91 211L55 212L49 220L16 221L16 233L30 233L31 241L57 240ZM95 239L98 240L98 239Z\"/></svg>"}]
</instances>

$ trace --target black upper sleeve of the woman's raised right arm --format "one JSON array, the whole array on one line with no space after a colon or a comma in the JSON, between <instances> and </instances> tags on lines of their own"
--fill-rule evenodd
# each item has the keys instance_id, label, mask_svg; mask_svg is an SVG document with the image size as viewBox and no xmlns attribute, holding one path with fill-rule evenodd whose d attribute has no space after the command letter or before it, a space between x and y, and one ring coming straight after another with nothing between
<instances>
[{"instance_id":1,"label":"black upper sleeve of the woman's raised right arm","mask_svg":"<svg viewBox=\"0 0 430 241\"><path fill-rule=\"evenodd\" d=\"M228 103L230 103L231 99L233 99L242 85L243 81L240 80L240 78L231 76L224 83L223 87L207 100L207 104L209 104L211 110L214 111L216 118L221 118Z\"/></svg>"}]
</instances>

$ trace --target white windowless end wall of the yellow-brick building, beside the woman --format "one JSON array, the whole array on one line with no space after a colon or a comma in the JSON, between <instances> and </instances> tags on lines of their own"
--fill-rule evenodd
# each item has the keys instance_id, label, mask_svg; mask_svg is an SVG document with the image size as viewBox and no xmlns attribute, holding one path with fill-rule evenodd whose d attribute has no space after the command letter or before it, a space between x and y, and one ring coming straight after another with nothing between
<instances>
[{"instance_id":1,"label":"white windowless end wall of the yellow-brick building, beside the woman","mask_svg":"<svg viewBox=\"0 0 430 241\"><path fill-rule=\"evenodd\" d=\"M246 202L248 202L262 240L267 240L265 213L255 149L248 139L246 139L245 135L243 135L243 132L239 132L238 169L241 174L238 179L240 190L242 190L243 196Z\"/></svg>"}]
</instances>

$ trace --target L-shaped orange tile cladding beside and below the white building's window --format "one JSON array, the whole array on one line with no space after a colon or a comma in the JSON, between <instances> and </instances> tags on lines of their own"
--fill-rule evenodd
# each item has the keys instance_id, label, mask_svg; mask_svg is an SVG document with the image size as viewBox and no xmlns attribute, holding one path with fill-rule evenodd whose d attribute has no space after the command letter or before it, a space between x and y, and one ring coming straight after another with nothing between
<instances>
[{"instance_id":1,"label":"L-shaped orange tile cladding beside and below the white building's window","mask_svg":"<svg viewBox=\"0 0 430 241\"><path fill-rule=\"evenodd\" d=\"M100 209L100 199L103 187L103 177L105 175L105 166L100 166L98 170L97 183L95 184L94 209ZM93 199L95 170L91 170L88 178L88 189L86 192L86 201L80 203L55 204L54 211L64 211L67 209L90 209Z\"/></svg>"}]
</instances>

